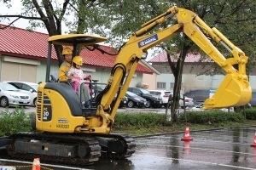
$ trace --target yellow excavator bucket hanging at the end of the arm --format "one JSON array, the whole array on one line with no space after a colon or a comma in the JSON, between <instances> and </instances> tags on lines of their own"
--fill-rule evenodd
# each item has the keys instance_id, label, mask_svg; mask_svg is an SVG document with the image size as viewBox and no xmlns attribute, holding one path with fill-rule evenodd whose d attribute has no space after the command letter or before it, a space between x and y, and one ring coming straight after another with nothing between
<instances>
[{"instance_id":1,"label":"yellow excavator bucket hanging at the end of the arm","mask_svg":"<svg viewBox=\"0 0 256 170\"><path fill-rule=\"evenodd\" d=\"M251 99L252 89L247 78L227 74L212 98L206 99L204 109L246 105Z\"/></svg>"}]
</instances>

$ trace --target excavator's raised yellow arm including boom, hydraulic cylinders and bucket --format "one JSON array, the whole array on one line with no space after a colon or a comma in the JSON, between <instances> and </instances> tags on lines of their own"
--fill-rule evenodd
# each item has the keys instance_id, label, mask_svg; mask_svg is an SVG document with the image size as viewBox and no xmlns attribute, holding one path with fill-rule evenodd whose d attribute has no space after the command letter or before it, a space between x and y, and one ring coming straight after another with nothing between
<instances>
[{"instance_id":1,"label":"excavator's raised yellow arm including boom, hydraulic cylinders and bucket","mask_svg":"<svg viewBox=\"0 0 256 170\"><path fill-rule=\"evenodd\" d=\"M176 25L145 35L155 26L166 22L173 16L176 16ZM166 13L160 14L143 24L142 27L142 29L133 33L125 46L120 49L112 74L108 78L106 90L102 94L101 105L104 111L110 113L110 120L113 121L119 102L125 96L137 64L140 59L145 59L144 54L147 53L148 48L152 48L180 32L186 34L226 72L224 81L216 93L211 99L205 101L205 109L246 105L250 101L252 89L246 74L247 56L216 28L207 26L197 14L173 6ZM224 48L233 55L233 58L226 59L218 48L210 42L209 38L224 45ZM234 65L238 65L238 70ZM115 96L117 96L115 105L111 107Z\"/></svg>"}]
</instances>

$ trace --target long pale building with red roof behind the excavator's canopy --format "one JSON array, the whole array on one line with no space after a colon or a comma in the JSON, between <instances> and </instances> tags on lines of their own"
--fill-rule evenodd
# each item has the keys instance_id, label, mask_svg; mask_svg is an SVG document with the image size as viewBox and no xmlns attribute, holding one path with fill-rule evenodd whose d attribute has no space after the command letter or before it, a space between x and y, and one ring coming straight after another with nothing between
<instances>
[{"instance_id":1,"label":"long pale building with red roof behind the excavator's canopy","mask_svg":"<svg viewBox=\"0 0 256 170\"><path fill-rule=\"evenodd\" d=\"M44 82L48 38L48 34L11 26L0 30L0 81ZM104 45L100 45L100 48L109 52L117 51ZM98 50L90 51L87 48L81 51L80 56L83 58L84 73L91 74L99 82L108 81L117 56L102 54ZM51 72L57 72L58 69L57 57L53 54ZM152 75L154 71L150 66L139 64L132 83L141 82L143 74Z\"/></svg>"}]
</instances>

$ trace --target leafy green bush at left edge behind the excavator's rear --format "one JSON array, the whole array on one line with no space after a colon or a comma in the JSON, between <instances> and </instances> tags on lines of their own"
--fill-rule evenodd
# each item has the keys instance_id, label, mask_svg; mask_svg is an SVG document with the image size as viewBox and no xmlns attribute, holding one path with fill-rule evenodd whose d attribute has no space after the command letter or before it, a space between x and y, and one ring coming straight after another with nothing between
<instances>
[{"instance_id":1,"label":"leafy green bush at left edge behind the excavator's rear","mask_svg":"<svg viewBox=\"0 0 256 170\"><path fill-rule=\"evenodd\" d=\"M10 112L0 111L0 136L9 136L17 132L30 132L31 117L27 115L23 108L15 108Z\"/></svg>"}]
</instances>

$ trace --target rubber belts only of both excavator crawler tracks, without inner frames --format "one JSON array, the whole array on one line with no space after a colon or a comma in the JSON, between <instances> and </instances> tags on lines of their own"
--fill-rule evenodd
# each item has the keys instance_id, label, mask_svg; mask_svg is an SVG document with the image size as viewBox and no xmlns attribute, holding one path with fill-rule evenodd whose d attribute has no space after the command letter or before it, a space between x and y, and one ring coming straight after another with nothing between
<instances>
[{"instance_id":1,"label":"rubber belts only of both excavator crawler tracks, without inner frames","mask_svg":"<svg viewBox=\"0 0 256 170\"><path fill-rule=\"evenodd\" d=\"M108 150L104 146L100 146L96 138L103 138L113 141L121 141L125 148L122 153L115 153ZM88 146L90 153L84 157L62 157L62 156L46 156L38 154L21 153L15 150L15 139L33 139L44 141L60 141L68 144L84 144ZM7 146L9 156L21 160L33 160L35 157L40 158L41 161L48 161L53 163L69 164L69 165L90 165L98 161L99 157L111 159L125 159L130 157L135 152L136 144L134 139L125 134L96 134L88 135L84 133L70 134L70 133L14 133L9 137L9 144Z\"/></svg>"}]
</instances>

